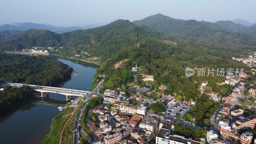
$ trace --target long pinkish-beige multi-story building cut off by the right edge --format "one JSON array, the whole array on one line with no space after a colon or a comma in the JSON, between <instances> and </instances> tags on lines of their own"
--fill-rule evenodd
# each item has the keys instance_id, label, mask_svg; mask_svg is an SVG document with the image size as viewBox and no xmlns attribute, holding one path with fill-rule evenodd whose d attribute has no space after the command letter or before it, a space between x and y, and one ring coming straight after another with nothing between
<instances>
[{"instance_id":1,"label":"long pinkish-beige multi-story building cut off by the right edge","mask_svg":"<svg viewBox=\"0 0 256 144\"><path fill-rule=\"evenodd\" d=\"M243 128L254 128L256 124L256 115L248 116L246 118L237 120L236 123L232 125L232 128L235 130Z\"/></svg>"}]
</instances>

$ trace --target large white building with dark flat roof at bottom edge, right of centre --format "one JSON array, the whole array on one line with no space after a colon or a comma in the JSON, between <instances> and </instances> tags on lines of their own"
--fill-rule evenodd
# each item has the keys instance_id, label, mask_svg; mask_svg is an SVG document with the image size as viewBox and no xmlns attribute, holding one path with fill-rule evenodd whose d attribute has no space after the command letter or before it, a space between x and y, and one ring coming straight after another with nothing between
<instances>
[{"instance_id":1,"label":"large white building with dark flat roof at bottom edge, right of centre","mask_svg":"<svg viewBox=\"0 0 256 144\"><path fill-rule=\"evenodd\" d=\"M191 138L185 139L182 136L170 135L169 130L161 129L156 136L156 144L201 144Z\"/></svg>"}]
</instances>

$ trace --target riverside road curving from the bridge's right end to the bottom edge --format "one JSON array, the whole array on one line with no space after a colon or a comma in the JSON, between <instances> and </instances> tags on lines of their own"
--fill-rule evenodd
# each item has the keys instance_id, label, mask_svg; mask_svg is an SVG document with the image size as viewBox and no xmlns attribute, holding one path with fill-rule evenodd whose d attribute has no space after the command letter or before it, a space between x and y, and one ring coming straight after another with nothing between
<instances>
[{"instance_id":1,"label":"riverside road curving from the bridge's right end to the bottom edge","mask_svg":"<svg viewBox=\"0 0 256 144\"><path fill-rule=\"evenodd\" d=\"M84 134L84 136L87 138L87 140L91 143L93 140L92 138L82 129L80 129L80 118L81 118L81 114L83 112L83 109L85 106L87 106L87 100L89 101L90 98L92 98L92 95L97 95L98 94L98 88L103 86L103 81L101 81L101 83L89 94L86 95L86 100L84 101L84 104L82 105L82 107L79 109L77 115L76 115L76 119L75 119L75 124L74 124L74 128L73 128L73 144L78 144L79 143L79 136L80 133ZM81 101L83 102L83 101ZM77 131L76 131L77 129Z\"/></svg>"}]
</instances>

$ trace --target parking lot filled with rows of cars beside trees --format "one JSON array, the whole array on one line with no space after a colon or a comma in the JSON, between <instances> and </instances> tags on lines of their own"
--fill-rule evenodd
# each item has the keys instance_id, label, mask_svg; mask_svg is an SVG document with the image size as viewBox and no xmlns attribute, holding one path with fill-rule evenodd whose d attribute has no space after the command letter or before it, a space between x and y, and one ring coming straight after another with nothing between
<instances>
[{"instance_id":1,"label":"parking lot filled with rows of cars beside trees","mask_svg":"<svg viewBox=\"0 0 256 144\"><path fill-rule=\"evenodd\" d=\"M182 117L188 111L189 104L180 103L180 102L169 102L166 108L165 116L166 117L175 117L175 115L180 115Z\"/></svg>"}]
</instances>

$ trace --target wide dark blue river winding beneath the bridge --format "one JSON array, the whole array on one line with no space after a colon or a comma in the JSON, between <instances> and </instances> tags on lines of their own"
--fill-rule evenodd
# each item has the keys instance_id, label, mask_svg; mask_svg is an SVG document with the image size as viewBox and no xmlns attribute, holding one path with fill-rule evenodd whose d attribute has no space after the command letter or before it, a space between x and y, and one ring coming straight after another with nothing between
<instances>
[{"instance_id":1,"label":"wide dark blue river winding beneath the bridge","mask_svg":"<svg viewBox=\"0 0 256 144\"><path fill-rule=\"evenodd\" d=\"M78 73L78 75L72 76L71 79L60 84L59 87L85 91L88 89L90 91L93 76L100 66L58 56L49 55L49 57L69 65ZM54 105L40 103L39 101L41 100L54 103ZM1 143L40 143L51 130L52 118L59 114L58 105L56 104L67 104L66 96L50 93L49 96L42 99L38 95L36 98L22 103L4 116L1 116Z\"/></svg>"}]
</instances>

